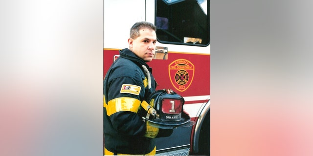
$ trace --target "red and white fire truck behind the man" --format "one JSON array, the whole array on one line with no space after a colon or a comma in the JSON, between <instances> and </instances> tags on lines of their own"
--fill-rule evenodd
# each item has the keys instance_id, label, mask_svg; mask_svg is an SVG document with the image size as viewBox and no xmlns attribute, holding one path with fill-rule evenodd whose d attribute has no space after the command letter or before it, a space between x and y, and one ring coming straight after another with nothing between
<instances>
[{"instance_id":1,"label":"red and white fire truck behind the man","mask_svg":"<svg viewBox=\"0 0 313 156\"><path fill-rule=\"evenodd\" d=\"M185 99L196 124L157 138L156 155L209 155L210 151L210 0L104 0L103 75L128 48L136 21L157 27L156 55L148 65L158 83Z\"/></svg>"}]
</instances>

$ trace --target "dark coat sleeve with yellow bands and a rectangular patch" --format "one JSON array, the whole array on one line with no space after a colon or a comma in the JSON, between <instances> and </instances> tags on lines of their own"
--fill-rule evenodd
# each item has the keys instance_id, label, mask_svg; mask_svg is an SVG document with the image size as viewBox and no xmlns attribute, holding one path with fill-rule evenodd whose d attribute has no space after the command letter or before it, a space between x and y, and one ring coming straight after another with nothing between
<instances>
[{"instance_id":1,"label":"dark coat sleeve with yellow bands and a rectangular patch","mask_svg":"<svg viewBox=\"0 0 313 156\"><path fill-rule=\"evenodd\" d=\"M114 78L108 84L107 114L112 127L120 135L154 138L159 129L143 121L137 112L145 95L145 86L138 72L136 76Z\"/></svg>"}]
</instances>

